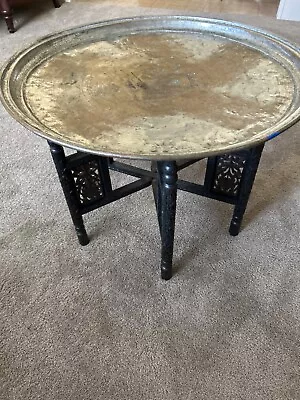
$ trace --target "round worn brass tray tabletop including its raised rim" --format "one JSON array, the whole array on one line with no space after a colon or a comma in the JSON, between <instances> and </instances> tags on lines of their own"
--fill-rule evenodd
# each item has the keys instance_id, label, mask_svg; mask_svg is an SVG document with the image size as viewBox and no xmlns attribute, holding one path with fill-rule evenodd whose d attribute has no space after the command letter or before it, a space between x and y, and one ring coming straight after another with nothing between
<instances>
[{"instance_id":1,"label":"round worn brass tray tabletop including its raised rim","mask_svg":"<svg viewBox=\"0 0 300 400\"><path fill-rule=\"evenodd\" d=\"M1 100L53 142L143 159L251 147L300 117L300 52L228 21L136 17L39 40L4 66Z\"/></svg>"}]
</instances>

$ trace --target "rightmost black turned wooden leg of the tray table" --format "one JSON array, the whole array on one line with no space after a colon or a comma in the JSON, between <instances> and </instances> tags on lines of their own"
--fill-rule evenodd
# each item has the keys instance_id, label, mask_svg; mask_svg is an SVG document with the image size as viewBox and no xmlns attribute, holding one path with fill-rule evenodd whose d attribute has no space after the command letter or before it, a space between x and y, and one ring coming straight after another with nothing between
<instances>
[{"instance_id":1,"label":"rightmost black turned wooden leg of the tray table","mask_svg":"<svg viewBox=\"0 0 300 400\"><path fill-rule=\"evenodd\" d=\"M264 143L253 147L249 151L246 159L240 182L237 204L234 207L233 217L229 227L229 233L232 236L237 236L239 234L263 149Z\"/></svg>"}]
</instances>

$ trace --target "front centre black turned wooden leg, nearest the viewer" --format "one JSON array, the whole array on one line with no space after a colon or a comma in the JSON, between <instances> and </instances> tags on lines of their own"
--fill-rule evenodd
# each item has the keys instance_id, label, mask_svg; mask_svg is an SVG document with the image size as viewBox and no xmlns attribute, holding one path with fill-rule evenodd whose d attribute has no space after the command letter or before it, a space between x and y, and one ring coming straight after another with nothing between
<instances>
[{"instance_id":1,"label":"front centre black turned wooden leg, nearest the viewer","mask_svg":"<svg viewBox=\"0 0 300 400\"><path fill-rule=\"evenodd\" d=\"M175 161L158 161L157 214L161 231L161 277L172 277L172 261L175 233L177 198L177 165Z\"/></svg>"}]
</instances>

